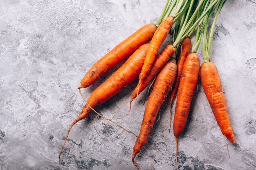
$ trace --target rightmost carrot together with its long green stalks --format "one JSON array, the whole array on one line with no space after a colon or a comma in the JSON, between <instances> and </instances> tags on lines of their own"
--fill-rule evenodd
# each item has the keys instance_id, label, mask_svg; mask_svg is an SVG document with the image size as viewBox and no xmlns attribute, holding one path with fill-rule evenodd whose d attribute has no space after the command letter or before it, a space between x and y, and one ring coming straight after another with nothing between
<instances>
[{"instance_id":1,"label":"rightmost carrot together with its long green stalks","mask_svg":"<svg viewBox=\"0 0 256 170\"><path fill-rule=\"evenodd\" d=\"M218 73L218 69L213 62L210 62L210 54L211 54L211 44L213 33L215 29L215 25L218 19L218 15L225 4L225 0L221 0L218 5L218 9L216 11L215 17L211 24L211 28L209 29L208 37L208 23L204 26L203 30L203 60L204 63L200 68L200 77L202 86L204 88L204 93L208 99L208 102L211 106L215 119L220 127L220 130L231 143L235 143L235 136L233 133L233 129L231 128L229 115L227 110L227 103L222 91L222 86L220 82L220 76ZM229 154L229 153L228 153Z\"/></svg>"}]
</instances>

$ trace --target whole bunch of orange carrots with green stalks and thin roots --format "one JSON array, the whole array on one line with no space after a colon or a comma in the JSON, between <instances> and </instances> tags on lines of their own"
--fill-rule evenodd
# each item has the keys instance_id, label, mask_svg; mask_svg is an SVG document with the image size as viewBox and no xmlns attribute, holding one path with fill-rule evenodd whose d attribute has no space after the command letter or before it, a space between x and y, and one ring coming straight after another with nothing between
<instances>
[{"instance_id":1,"label":"whole bunch of orange carrots with green stalks and thin roots","mask_svg":"<svg viewBox=\"0 0 256 170\"><path fill-rule=\"evenodd\" d=\"M153 86L153 88L146 104L139 136L137 136L133 148L132 162L138 169L141 169L135 162L135 157L146 144L157 114L159 114L159 110L168 96L171 103L170 132L171 106L173 99L177 96L173 120L173 133L176 137L176 165L178 137L182 134L186 125L193 94L198 86L199 73L204 93L220 130L234 144L235 137L229 122L227 103L222 91L218 70L209 59L216 21L225 2L226 0L167 0L156 24L142 26L96 62L83 77L81 85L78 87L82 97L81 88L89 87L112 67L128 58L106 82L92 92L87 100L83 97L86 104L67 131L61 153L72 126L91 113L96 113L126 130L113 120L128 116L132 101L151 83L150 86ZM210 22L213 15L213 22ZM208 30L209 25L211 27ZM168 34L171 34L173 43L167 45L159 53L159 48ZM191 49L192 36L195 36L195 41ZM204 63L200 66L197 51L201 39ZM130 103L130 109L124 117L114 118L115 115L108 119L97 113L95 110L97 107L121 92L138 77L139 82L132 92L130 101L126 102ZM61 153L59 161L61 161Z\"/></svg>"}]
</instances>

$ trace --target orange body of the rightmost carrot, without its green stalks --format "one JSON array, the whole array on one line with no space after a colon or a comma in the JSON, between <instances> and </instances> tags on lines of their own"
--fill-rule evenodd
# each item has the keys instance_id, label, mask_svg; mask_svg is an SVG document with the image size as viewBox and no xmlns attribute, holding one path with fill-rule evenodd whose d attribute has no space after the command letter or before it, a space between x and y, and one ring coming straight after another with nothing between
<instances>
[{"instance_id":1,"label":"orange body of the rightmost carrot, without its green stalks","mask_svg":"<svg viewBox=\"0 0 256 170\"><path fill-rule=\"evenodd\" d=\"M218 69L213 62L206 62L201 65L200 77L204 93L212 108L215 119L220 130L232 144L235 143L235 136L231 128L227 103L222 91Z\"/></svg>"}]
</instances>

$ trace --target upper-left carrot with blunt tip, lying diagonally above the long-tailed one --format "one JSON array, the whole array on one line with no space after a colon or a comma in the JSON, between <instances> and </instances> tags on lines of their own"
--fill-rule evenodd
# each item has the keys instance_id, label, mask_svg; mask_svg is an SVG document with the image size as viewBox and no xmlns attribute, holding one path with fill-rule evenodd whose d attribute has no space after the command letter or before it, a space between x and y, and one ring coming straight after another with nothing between
<instances>
[{"instance_id":1,"label":"upper-left carrot with blunt tip, lying diagonally above the long-tailed one","mask_svg":"<svg viewBox=\"0 0 256 170\"><path fill-rule=\"evenodd\" d=\"M92 68L81 80L81 86L78 88L90 86L110 68L126 59L134 51L139 49L141 45L146 44L149 40L151 40L156 29L157 27L155 24L146 24L126 40L115 46L114 49L104 55L92 66Z\"/></svg>"}]
</instances>

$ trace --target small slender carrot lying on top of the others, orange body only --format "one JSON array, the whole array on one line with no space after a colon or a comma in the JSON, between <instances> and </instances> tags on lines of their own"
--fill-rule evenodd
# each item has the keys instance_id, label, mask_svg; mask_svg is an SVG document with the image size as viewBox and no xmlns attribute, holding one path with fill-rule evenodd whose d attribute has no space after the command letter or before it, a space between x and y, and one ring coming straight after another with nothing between
<instances>
[{"instance_id":1,"label":"small slender carrot lying on top of the others, orange body only","mask_svg":"<svg viewBox=\"0 0 256 170\"><path fill-rule=\"evenodd\" d=\"M172 25L173 17L167 17L158 26L157 31L155 31L155 34L150 42L150 46L146 55L144 65L139 75L139 83L147 76L148 72L150 71L151 66L155 60L155 56L157 55L157 52L159 50L159 47L166 39Z\"/></svg>"}]
</instances>

